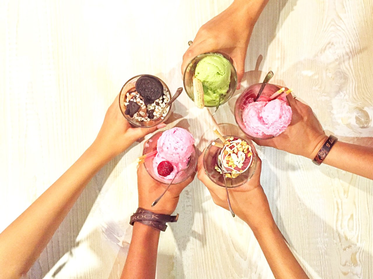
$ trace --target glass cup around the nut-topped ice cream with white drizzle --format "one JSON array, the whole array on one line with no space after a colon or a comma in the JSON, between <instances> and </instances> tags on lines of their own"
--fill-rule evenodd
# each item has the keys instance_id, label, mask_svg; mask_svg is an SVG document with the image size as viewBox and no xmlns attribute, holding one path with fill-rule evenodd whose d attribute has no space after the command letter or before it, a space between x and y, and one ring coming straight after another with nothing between
<instances>
[{"instance_id":1,"label":"glass cup around the nut-topped ice cream with white drizzle","mask_svg":"<svg viewBox=\"0 0 373 279\"><path fill-rule=\"evenodd\" d=\"M223 136L223 137L227 138L227 137L237 137L237 136ZM253 160L251 161L250 167L246 171L238 175L238 177L225 178L225 180L227 181L228 188L239 187L242 184L249 181L250 178L253 177L255 169L256 169L257 153L253 146L253 142L251 142L250 139L245 139L242 137L239 137L239 138L245 140L245 142L247 142L247 144L251 146L251 152L253 153L252 155ZM222 141L219 138L217 138L216 140L213 140L213 142L222 143ZM213 181L213 183L221 187L225 187L223 175L220 174L220 172L218 172L215 169L215 166L218 164L217 157L219 156L219 153L222 149L212 145L213 142L211 142L210 145L207 146L207 149L203 155L203 168L205 169L207 176L211 179L211 181Z\"/></svg>"}]
</instances>

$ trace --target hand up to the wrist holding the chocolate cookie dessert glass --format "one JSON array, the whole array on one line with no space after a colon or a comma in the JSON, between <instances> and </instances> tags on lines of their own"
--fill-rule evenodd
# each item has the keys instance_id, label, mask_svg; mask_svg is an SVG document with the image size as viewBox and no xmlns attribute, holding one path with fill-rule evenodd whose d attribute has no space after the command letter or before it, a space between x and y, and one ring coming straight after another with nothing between
<instances>
[{"instance_id":1,"label":"hand up to the wrist holding the chocolate cookie dessert glass","mask_svg":"<svg viewBox=\"0 0 373 279\"><path fill-rule=\"evenodd\" d=\"M103 155L111 159L126 150L136 140L164 127L166 124L162 123L150 128L132 128L120 111L118 94L106 112L104 123L93 145L96 150L102 150Z\"/></svg>"}]
</instances>

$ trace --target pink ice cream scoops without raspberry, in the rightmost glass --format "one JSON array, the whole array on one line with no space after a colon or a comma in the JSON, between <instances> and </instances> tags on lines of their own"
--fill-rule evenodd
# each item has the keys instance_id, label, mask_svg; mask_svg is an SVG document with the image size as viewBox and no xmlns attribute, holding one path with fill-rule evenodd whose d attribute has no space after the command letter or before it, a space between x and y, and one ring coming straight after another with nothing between
<instances>
[{"instance_id":1,"label":"pink ice cream scoops without raspberry, in the rightmost glass","mask_svg":"<svg viewBox=\"0 0 373 279\"><path fill-rule=\"evenodd\" d=\"M275 99L248 104L242 113L242 120L248 134L276 136L289 126L291 116L291 107L282 99Z\"/></svg>"}]
</instances>

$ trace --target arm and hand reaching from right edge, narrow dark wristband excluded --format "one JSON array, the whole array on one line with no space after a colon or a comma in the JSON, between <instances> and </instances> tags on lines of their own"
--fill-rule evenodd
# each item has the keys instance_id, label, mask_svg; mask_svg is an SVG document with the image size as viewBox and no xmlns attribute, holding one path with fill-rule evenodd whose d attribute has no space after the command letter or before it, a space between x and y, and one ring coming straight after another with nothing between
<instances>
[{"instance_id":1,"label":"arm and hand reaching from right edge, narrow dark wristband excluded","mask_svg":"<svg viewBox=\"0 0 373 279\"><path fill-rule=\"evenodd\" d=\"M292 95L288 95L288 100L293 112L288 128L272 139L254 141L258 145L285 150L313 160L328 137L308 105L294 99ZM323 164L373 179L373 147L337 141Z\"/></svg>"}]
</instances>

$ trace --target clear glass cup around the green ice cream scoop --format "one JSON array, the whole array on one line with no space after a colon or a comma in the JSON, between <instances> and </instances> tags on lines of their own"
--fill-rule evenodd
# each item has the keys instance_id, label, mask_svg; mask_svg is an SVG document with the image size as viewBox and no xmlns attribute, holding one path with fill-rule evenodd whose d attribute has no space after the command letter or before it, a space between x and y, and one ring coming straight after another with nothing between
<instances>
[{"instance_id":1,"label":"clear glass cup around the green ice cream scoop","mask_svg":"<svg viewBox=\"0 0 373 279\"><path fill-rule=\"evenodd\" d=\"M221 53L210 52L210 53L203 53L203 54L200 54L194 57L189 62L188 66L186 66L186 69L184 72L184 78L183 78L184 88L185 88L186 94L188 94L189 98L192 101L194 101L193 76L195 74L195 67L197 66L198 62L201 61L203 58L207 56L216 56L216 55L225 57L229 61L229 64L231 65L231 82L229 83L229 88L228 88L227 93L225 95L222 95L222 99L220 100L219 105L222 105L228 102L228 100L233 96L233 93L235 92L236 87L237 87L237 73L236 73L235 67L233 66L233 61L231 57L226 56L225 54L221 54ZM214 108L216 106L217 106L217 103L214 105L205 104L205 107L209 107L209 108Z\"/></svg>"}]
</instances>

